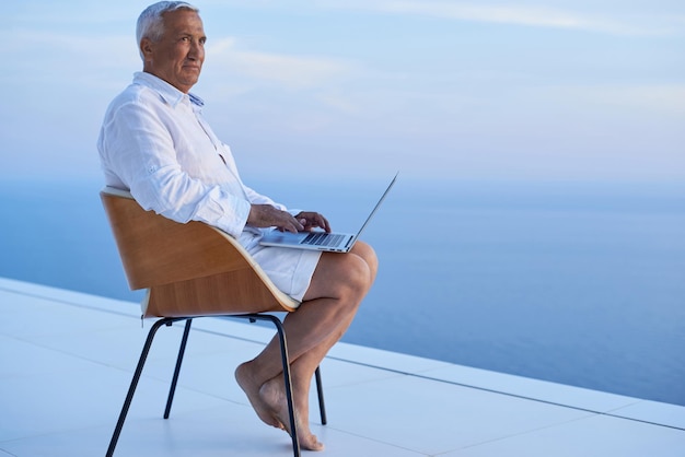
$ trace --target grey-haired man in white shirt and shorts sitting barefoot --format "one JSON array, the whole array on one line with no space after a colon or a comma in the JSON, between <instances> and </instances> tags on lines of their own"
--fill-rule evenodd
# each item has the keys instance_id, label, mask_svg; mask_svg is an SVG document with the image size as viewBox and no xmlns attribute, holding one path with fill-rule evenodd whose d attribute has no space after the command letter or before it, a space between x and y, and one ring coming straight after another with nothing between
<instances>
[{"instance_id":1,"label":"grey-haired man in white shirt and shorts sitting barefoot","mask_svg":"<svg viewBox=\"0 0 685 457\"><path fill-rule=\"evenodd\" d=\"M144 209L177 222L224 230L280 290L301 302L285 319L298 437L303 448L321 450L309 426L311 379L371 288L375 253L361 242L349 254L260 246L268 230L330 227L316 212L288 212L243 185L230 149L202 119L202 102L189 93L205 60L206 36L195 7L176 1L149 7L138 20L137 39L143 71L109 105L97 142L106 184L129 189ZM235 377L258 417L288 431L276 338L240 365Z\"/></svg>"}]
</instances>

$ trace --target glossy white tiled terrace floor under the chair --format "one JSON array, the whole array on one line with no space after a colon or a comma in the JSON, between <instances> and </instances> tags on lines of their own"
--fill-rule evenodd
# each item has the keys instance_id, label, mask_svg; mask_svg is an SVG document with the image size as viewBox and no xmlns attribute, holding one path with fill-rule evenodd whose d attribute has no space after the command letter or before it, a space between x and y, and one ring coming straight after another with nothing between
<instances>
[{"instance_id":1,"label":"glossy white tiled terrace floor under the chair","mask_svg":"<svg viewBox=\"0 0 685 457\"><path fill-rule=\"evenodd\" d=\"M151 325L138 310L0 278L0 457L105 454ZM272 333L259 326L196 319L162 419L181 331L160 329L116 455L292 455L233 379ZM322 373L325 456L685 456L683 407L342 343Z\"/></svg>"}]
</instances>

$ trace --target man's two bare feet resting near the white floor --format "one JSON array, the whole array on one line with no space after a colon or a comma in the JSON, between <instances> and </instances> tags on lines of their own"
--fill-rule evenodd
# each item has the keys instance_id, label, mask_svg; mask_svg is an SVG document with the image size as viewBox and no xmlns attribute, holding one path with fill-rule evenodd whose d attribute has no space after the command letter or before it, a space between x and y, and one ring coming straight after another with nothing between
<instances>
[{"instance_id":1,"label":"man's two bare feet resting near the white floor","mask_svg":"<svg viewBox=\"0 0 685 457\"><path fill-rule=\"evenodd\" d=\"M274 417L285 425L283 430L292 436L292 431L290 430L290 414L288 413L288 399L286 398L285 390L283 382L281 380L281 376L279 376L264 383L259 389L259 397L264 405L269 406ZM306 408L304 408L304 411L302 408L297 408L295 421L300 447L307 450L324 450L324 445L320 443L316 435L313 435L310 431L309 411L306 411Z\"/></svg>"}]
</instances>

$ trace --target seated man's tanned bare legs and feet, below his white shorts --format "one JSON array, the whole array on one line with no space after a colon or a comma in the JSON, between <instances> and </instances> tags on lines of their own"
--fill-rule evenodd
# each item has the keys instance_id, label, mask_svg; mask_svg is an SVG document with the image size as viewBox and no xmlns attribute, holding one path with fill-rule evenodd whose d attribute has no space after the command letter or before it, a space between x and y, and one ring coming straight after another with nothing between
<instances>
[{"instance_id":1,"label":"seated man's tanned bare legs and feet, below his white shorts","mask_svg":"<svg viewBox=\"0 0 685 457\"><path fill-rule=\"evenodd\" d=\"M358 243L348 255L324 254L303 303L286 317L298 437L303 448L323 445L310 432L309 390L314 371L342 337L375 279L373 249ZM346 278L340 281L340 278ZM279 343L274 339L253 361L237 367L235 377L257 415L267 424L289 427Z\"/></svg>"}]
</instances>

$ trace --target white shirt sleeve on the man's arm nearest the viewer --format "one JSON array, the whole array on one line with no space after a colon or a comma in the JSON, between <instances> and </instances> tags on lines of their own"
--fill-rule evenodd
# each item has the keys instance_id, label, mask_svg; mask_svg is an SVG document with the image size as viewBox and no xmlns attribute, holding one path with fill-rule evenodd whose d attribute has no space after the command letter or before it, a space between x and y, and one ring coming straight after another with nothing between
<instances>
[{"instance_id":1,"label":"white shirt sleeve on the man's arm nearest the viewer","mask_svg":"<svg viewBox=\"0 0 685 457\"><path fill-rule=\"evenodd\" d=\"M181 223L205 222L234 237L245 227L251 202L227 186L185 173L170 129L144 103L124 103L111 113L102 130L101 154L103 165L146 210Z\"/></svg>"}]
</instances>

